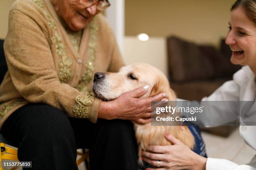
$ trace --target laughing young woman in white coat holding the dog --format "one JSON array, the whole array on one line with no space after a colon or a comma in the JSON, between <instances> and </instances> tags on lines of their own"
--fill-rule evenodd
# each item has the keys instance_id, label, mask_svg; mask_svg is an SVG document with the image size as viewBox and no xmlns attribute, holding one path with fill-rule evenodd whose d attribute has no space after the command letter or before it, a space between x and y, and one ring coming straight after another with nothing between
<instances>
[{"instance_id":1,"label":"laughing young woman in white coat holding the dog","mask_svg":"<svg viewBox=\"0 0 256 170\"><path fill-rule=\"evenodd\" d=\"M226 44L232 50L231 62L236 65L244 65L244 67L234 74L233 80L225 82L212 95L204 97L202 100L255 102L256 0L237 0L234 3L231 8ZM213 105L212 109L218 110L218 107ZM215 122L221 120L230 121L230 109L220 109L217 112L219 115L207 117L207 120L202 120L202 123L207 122L207 125L209 123L214 125ZM237 115L240 114L241 112L238 111ZM256 150L256 122L253 123L251 126L246 126L244 122L241 122L240 134L243 140ZM225 159L203 158L193 153L172 135L166 135L166 140L173 145L150 146L151 149L142 153L143 160L151 165L161 167L160 169L163 170L256 170L256 156L248 165L237 165ZM153 170L153 168L147 170Z\"/></svg>"}]
</instances>

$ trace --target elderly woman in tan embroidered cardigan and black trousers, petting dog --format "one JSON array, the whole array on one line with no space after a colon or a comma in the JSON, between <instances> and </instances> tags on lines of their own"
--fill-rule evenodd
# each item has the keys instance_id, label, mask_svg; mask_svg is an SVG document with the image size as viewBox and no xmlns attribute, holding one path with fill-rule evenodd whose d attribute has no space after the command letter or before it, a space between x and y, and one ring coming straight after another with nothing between
<instances>
[{"instance_id":1,"label":"elderly woman in tan embroidered cardigan and black trousers, petting dog","mask_svg":"<svg viewBox=\"0 0 256 170\"><path fill-rule=\"evenodd\" d=\"M31 170L77 170L77 148L90 149L92 170L138 169L127 120L150 121L151 101L164 94L138 99L145 86L109 102L91 95L96 71L115 72L124 65L110 26L98 14L109 5L108 0L17 0L10 9L1 133L18 147L20 161L32 161Z\"/></svg>"}]
</instances>

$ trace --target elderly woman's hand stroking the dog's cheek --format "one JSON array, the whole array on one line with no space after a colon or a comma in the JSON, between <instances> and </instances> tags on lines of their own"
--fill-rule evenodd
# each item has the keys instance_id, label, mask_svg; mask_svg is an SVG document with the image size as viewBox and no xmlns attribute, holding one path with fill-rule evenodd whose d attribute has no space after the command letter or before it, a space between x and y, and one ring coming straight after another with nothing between
<instances>
[{"instance_id":1,"label":"elderly woman's hand stroking the dog's cheek","mask_svg":"<svg viewBox=\"0 0 256 170\"><path fill-rule=\"evenodd\" d=\"M130 92L120 95L110 102L102 102L99 110L99 118L132 120L139 124L146 124L151 121L151 102L167 100L165 93L153 97L140 99L148 90L148 86L139 87Z\"/></svg>"}]
</instances>

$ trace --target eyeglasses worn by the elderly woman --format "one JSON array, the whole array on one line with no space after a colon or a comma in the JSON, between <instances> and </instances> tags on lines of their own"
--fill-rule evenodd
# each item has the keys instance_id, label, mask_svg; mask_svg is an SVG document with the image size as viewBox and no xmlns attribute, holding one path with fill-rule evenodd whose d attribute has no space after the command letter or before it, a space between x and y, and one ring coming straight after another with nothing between
<instances>
[{"instance_id":1,"label":"eyeglasses worn by the elderly woman","mask_svg":"<svg viewBox=\"0 0 256 170\"><path fill-rule=\"evenodd\" d=\"M97 10L102 11L110 6L108 0L79 0L80 4L84 7L91 7L92 5L97 5Z\"/></svg>"}]
</instances>

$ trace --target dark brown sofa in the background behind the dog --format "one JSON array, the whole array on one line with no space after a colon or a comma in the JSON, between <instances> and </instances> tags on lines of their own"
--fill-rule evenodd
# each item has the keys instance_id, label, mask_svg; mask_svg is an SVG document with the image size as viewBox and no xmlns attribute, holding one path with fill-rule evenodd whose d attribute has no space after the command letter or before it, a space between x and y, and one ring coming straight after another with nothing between
<instances>
[{"instance_id":1,"label":"dark brown sofa in the background behind the dog","mask_svg":"<svg viewBox=\"0 0 256 170\"><path fill-rule=\"evenodd\" d=\"M209 96L223 82L241 68L230 62L231 51L225 40L220 50L210 45L197 45L178 37L167 38L168 69L171 87L177 97L201 100ZM211 133L227 136L233 127L210 128Z\"/></svg>"}]
</instances>

